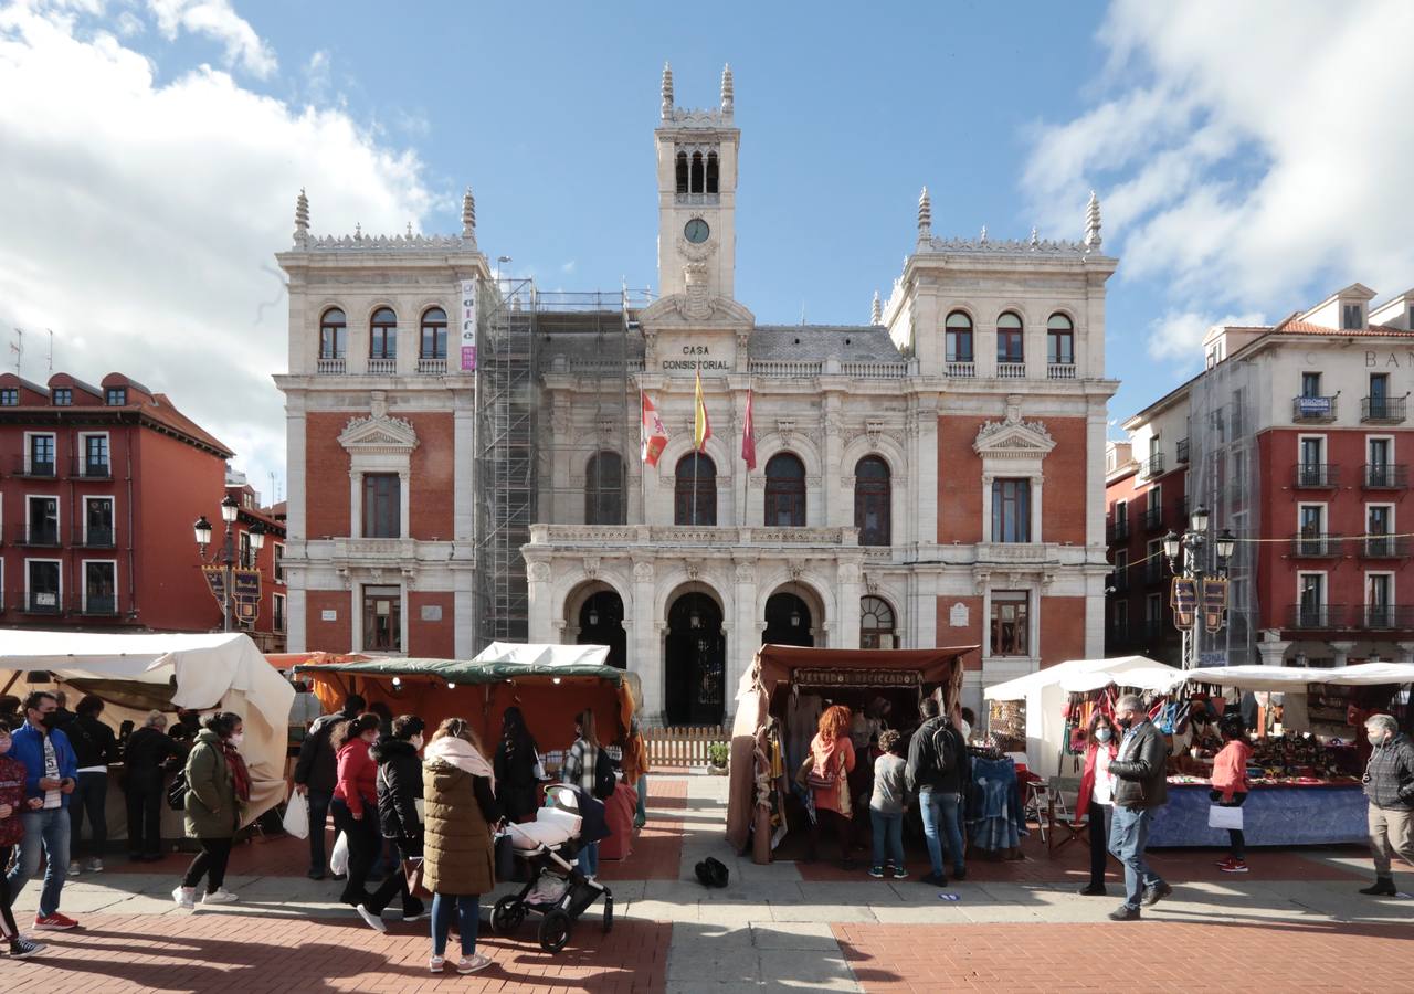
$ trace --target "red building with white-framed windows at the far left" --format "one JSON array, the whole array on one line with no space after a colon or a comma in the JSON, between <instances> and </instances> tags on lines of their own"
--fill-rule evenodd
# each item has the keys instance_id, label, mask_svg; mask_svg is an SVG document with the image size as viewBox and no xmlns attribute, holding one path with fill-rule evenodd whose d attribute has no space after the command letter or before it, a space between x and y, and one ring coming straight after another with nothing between
<instances>
[{"instance_id":1,"label":"red building with white-framed windows at the far left","mask_svg":"<svg viewBox=\"0 0 1414 994\"><path fill-rule=\"evenodd\" d=\"M0 625L219 626L191 525L219 515L229 457L122 373L0 375Z\"/></svg>"}]
</instances>

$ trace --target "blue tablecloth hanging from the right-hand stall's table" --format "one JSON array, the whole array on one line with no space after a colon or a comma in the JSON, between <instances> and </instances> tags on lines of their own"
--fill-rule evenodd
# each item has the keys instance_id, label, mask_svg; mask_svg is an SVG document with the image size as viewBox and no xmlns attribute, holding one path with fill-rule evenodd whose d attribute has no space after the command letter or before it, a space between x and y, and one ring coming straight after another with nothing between
<instances>
[{"instance_id":1,"label":"blue tablecloth hanging from the right-hand stall's table","mask_svg":"<svg viewBox=\"0 0 1414 994\"><path fill-rule=\"evenodd\" d=\"M1226 829L1208 827L1208 786L1169 785L1168 805L1154 812L1150 847L1226 846ZM1363 843L1365 792L1350 786L1256 788L1241 806L1247 846Z\"/></svg>"}]
</instances>

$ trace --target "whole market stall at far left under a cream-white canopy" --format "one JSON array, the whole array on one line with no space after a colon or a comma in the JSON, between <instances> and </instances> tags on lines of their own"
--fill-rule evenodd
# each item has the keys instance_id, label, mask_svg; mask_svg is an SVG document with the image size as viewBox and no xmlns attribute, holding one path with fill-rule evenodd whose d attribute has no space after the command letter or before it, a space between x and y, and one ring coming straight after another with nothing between
<instances>
[{"instance_id":1,"label":"whole market stall at far left under a cream-white canopy","mask_svg":"<svg viewBox=\"0 0 1414 994\"><path fill-rule=\"evenodd\" d=\"M150 710L235 711L245 720L240 752L250 769L249 824L284 800L286 723L294 690L255 642L229 635L117 635L10 629L0 639L0 693L65 690L105 701L102 720L117 731ZM110 766L109 840L127 837L122 764ZM181 814L164 806L163 837L181 837Z\"/></svg>"}]
</instances>

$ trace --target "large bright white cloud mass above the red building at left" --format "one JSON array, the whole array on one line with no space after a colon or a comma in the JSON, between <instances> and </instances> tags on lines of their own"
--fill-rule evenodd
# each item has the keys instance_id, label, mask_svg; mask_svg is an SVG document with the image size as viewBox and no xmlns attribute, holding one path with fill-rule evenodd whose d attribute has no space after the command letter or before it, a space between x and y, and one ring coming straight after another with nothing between
<instances>
[{"instance_id":1,"label":"large bright white cloud mass above the red building at left","mask_svg":"<svg viewBox=\"0 0 1414 994\"><path fill-rule=\"evenodd\" d=\"M421 163L342 110L294 109L225 72L157 85L113 35L81 40L20 7L0 8L0 328L52 328L55 369L129 373L253 481L283 476L270 375L286 368L287 308L271 256L290 245L294 199L308 187L320 232L396 233L433 202ZM41 348L25 373L44 379Z\"/></svg>"}]
</instances>

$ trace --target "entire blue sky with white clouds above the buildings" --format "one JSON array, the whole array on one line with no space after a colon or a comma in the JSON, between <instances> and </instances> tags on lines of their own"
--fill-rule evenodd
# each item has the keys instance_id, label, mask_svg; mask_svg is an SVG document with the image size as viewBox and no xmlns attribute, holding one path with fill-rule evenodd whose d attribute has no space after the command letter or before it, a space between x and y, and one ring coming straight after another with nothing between
<instances>
[{"instance_id":1,"label":"entire blue sky with white clouds above the buildings","mask_svg":"<svg viewBox=\"0 0 1414 994\"><path fill-rule=\"evenodd\" d=\"M665 59L680 106L732 65L737 297L761 322L865 321L923 184L945 236L1079 238L1099 191L1121 420L1213 321L1414 284L1414 74L1372 58L1414 4L407 7L0 1L0 327L153 380L264 486L298 188L321 233L451 232L469 182L518 273L652 287Z\"/></svg>"}]
</instances>

